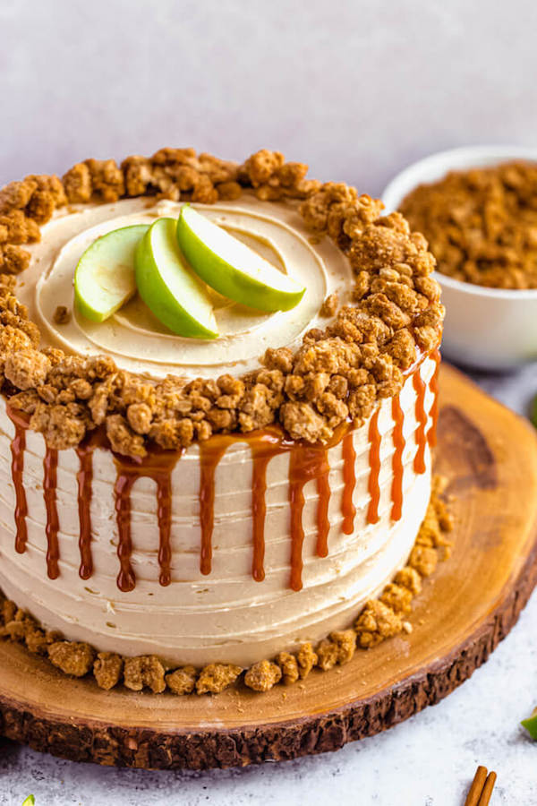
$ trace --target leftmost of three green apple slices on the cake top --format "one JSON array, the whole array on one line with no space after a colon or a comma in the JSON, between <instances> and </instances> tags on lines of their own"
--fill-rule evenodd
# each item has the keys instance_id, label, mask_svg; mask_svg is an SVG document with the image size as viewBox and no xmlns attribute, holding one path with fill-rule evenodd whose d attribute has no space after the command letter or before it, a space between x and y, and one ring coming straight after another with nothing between
<instances>
[{"instance_id":1,"label":"leftmost of three green apple slices on the cake top","mask_svg":"<svg viewBox=\"0 0 537 806\"><path fill-rule=\"evenodd\" d=\"M136 294L134 253L148 224L115 229L82 254L74 272L74 298L82 316L104 322Z\"/></svg>"}]
</instances>

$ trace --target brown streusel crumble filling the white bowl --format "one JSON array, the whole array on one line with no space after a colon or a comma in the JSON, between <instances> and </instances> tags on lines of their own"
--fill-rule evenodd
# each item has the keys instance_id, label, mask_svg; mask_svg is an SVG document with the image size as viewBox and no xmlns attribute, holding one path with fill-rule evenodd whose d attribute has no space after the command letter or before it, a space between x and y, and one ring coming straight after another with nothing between
<instances>
[{"instance_id":1,"label":"brown streusel crumble filling the white bowl","mask_svg":"<svg viewBox=\"0 0 537 806\"><path fill-rule=\"evenodd\" d=\"M401 211L438 269L496 288L537 288L537 163L452 171L409 193Z\"/></svg>"}]
</instances>

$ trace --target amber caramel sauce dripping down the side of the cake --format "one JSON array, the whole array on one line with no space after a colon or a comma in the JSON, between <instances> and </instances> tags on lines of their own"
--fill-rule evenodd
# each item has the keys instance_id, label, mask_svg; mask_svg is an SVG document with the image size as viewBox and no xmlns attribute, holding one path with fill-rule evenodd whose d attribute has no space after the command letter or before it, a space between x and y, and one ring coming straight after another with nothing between
<instances>
[{"instance_id":1,"label":"amber caramel sauce dripping down the side of the cake","mask_svg":"<svg viewBox=\"0 0 537 806\"><path fill-rule=\"evenodd\" d=\"M438 420L438 372L440 356L436 350L431 353L436 361L435 373L430 381L430 390L434 402L430 410L431 425L425 433L427 414L424 408L426 384L418 369L419 363L413 366L408 374L413 374L413 389L416 393L415 413L418 421L416 431L417 451L414 458L416 473L425 471L425 448L427 442L436 442L436 424ZM420 362L421 363L421 362ZM394 455L392 459L393 481L391 487L391 518L401 518L403 508L403 436L404 412L398 397L392 399L392 416L394 419ZM13 422L15 435L11 442L12 476L15 489L15 549L23 553L28 536L26 518L28 507L23 485L24 451L26 447L25 432L29 427L29 416L7 406L7 414ZM366 519L374 524L379 521L379 470L380 444L379 408L371 416L368 438L370 442L369 462L370 474L368 491L370 502ZM317 543L316 553L320 557L328 555L328 534L330 523L328 507L330 501L328 450L341 443L343 458L344 488L341 501L342 531L350 535L354 531L356 510L353 502L356 484L354 437L352 425L340 425L327 444L308 444L287 440L277 425L268 426L258 432L247 434L217 434L207 442L200 442L200 571L207 575L212 567L212 536L215 516L215 476L220 459L228 447L236 442L245 442L251 450L251 519L252 519L252 562L251 574L256 581L265 579L265 519L267 513L267 469L270 459L278 454L289 453L289 510L290 510L290 586L294 590L303 587L303 508L305 505L304 487L314 481L317 487ZM97 429L81 442L77 449L80 462L77 473L78 510L80 520L79 548L81 579L90 579L93 573L91 557L91 517L90 504L93 484L93 451L95 448L110 450L103 429ZM160 450L156 446L149 448L147 457L130 459L114 453L115 479L115 514L117 524L117 556L119 573L117 586L124 592L131 591L136 584L132 569L132 535L131 535L131 492L133 484L141 476L153 479L157 485L158 516L158 565L159 583L169 585L171 581L171 526L172 526L172 484L171 475L176 462L181 458L181 450ZM43 462L44 500L47 510L47 574L50 579L59 575L58 546L58 513L56 507L57 482L57 450L47 448Z\"/></svg>"}]
</instances>

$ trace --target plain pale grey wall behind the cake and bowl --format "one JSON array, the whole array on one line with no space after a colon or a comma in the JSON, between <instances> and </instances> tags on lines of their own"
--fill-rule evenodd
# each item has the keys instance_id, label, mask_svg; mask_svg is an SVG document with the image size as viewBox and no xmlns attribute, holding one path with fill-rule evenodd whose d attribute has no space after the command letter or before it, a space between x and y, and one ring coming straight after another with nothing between
<instances>
[{"instance_id":1,"label":"plain pale grey wall behind the cake and bowl","mask_svg":"<svg viewBox=\"0 0 537 806\"><path fill-rule=\"evenodd\" d=\"M0 182L87 157L261 147L379 193L537 131L533 0L0 0Z\"/></svg>"}]
</instances>

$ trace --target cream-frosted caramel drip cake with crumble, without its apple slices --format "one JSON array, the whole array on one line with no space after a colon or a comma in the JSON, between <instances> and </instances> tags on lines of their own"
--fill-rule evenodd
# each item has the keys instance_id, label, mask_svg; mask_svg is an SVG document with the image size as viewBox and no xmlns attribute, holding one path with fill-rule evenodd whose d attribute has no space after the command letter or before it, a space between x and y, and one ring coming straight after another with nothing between
<instances>
[{"instance_id":1,"label":"cream-frosted caramel drip cake with crumble, without its apple slices","mask_svg":"<svg viewBox=\"0 0 537 806\"><path fill-rule=\"evenodd\" d=\"M0 193L4 634L68 673L109 688L124 665L131 688L163 690L166 673L183 693L200 669L199 692L250 670L266 690L297 657L324 667L323 641L352 655L354 618L387 586L415 593L434 259L400 214L306 171L267 150L238 166L163 149ZM211 341L138 296L81 316L81 253L184 201L300 280L301 302L259 313L216 295Z\"/></svg>"}]
</instances>

